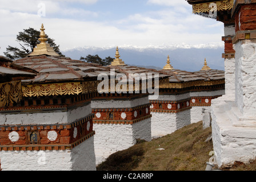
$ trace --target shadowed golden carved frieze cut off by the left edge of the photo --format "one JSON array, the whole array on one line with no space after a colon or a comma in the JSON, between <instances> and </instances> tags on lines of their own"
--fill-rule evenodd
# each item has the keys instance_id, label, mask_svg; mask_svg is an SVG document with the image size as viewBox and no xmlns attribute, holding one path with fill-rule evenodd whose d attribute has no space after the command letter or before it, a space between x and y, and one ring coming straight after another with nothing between
<instances>
[{"instance_id":1,"label":"shadowed golden carved frieze cut off by the left edge of the photo","mask_svg":"<svg viewBox=\"0 0 256 182\"><path fill-rule=\"evenodd\" d=\"M11 81L0 84L0 107L22 99L21 81Z\"/></svg>"}]
</instances>

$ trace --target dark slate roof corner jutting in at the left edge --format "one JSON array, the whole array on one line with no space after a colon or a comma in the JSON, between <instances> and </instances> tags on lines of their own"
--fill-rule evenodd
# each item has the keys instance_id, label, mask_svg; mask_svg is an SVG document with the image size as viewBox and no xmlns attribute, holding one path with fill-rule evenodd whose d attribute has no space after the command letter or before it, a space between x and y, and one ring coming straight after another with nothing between
<instances>
[{"instance_id":1,"label":"dark slate roof corner jutting in at the left edge","mask_svg":"<svg viewBox=\"0 0 256 182\"><path fill-rule=\"evenodd\" d=\"M37 72L33 69L14 64L7 57L0 56L0 82L26 80L34 78Z\"/></svg>"}]
</instances>

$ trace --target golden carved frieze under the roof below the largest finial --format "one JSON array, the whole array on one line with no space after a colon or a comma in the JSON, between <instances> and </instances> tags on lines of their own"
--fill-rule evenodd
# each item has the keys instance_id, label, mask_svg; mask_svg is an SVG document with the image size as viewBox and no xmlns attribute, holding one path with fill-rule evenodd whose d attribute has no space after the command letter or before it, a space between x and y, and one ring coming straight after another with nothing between
<instances>
[{"instance_id":1,"label":"golden carved frieze under the roof below the largest finial","mask_svg":"<svg viewBox=\"0 0 256 182\"><path fill-rule=\"evenodd\" d=\"M24 97L62 96L97 92L99 81L68 82L57 84L23 85Z\"/></svg>"}]
</instances>

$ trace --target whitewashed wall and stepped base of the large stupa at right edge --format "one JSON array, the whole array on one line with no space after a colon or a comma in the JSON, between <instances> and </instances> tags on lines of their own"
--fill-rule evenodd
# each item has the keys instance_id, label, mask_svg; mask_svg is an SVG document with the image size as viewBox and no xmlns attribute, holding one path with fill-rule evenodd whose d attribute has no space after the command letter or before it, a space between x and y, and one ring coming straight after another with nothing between
<instances>
[{"instance_id":1,"label":"whitewashed wall and stepped base of the large stupa at right edge","mask_svg":"<svg viewBox=\"0 0 256 182\"><path fill-rule=\"evenodd\" d=\"M249 40L235 44L235 98L226 94L211 104L213 146L219 167L231 166L235 161L249 163L256 156L255 48ZM230 67L230 75L233 64L225 65L225 69Z\"/></svg>"}]
</instances>

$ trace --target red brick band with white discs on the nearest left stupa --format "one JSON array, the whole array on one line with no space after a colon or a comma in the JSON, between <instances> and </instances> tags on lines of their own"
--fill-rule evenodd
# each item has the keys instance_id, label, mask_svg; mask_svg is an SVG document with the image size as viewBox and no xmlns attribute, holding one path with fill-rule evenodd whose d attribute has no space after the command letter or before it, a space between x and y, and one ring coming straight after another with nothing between
<instances>
[{"instance_id":1,"label":"red brick band with white discs on the nearest left stupa","mask_svg":"<svg viewBox=\"0 0 256 182\"><path fill-rule=\"evenodd\" d=\"M65 150L73 148L94 135L93 116L94 114L90 114L69 124L0 126L0 150L60 150L60 148ZM16 134L17 140L11 140L10 134L13 132ZM49 132L55 134L54 139L49 137ZM11 148L12 146L14 149Z\"/></svg>"}]
</instances>

